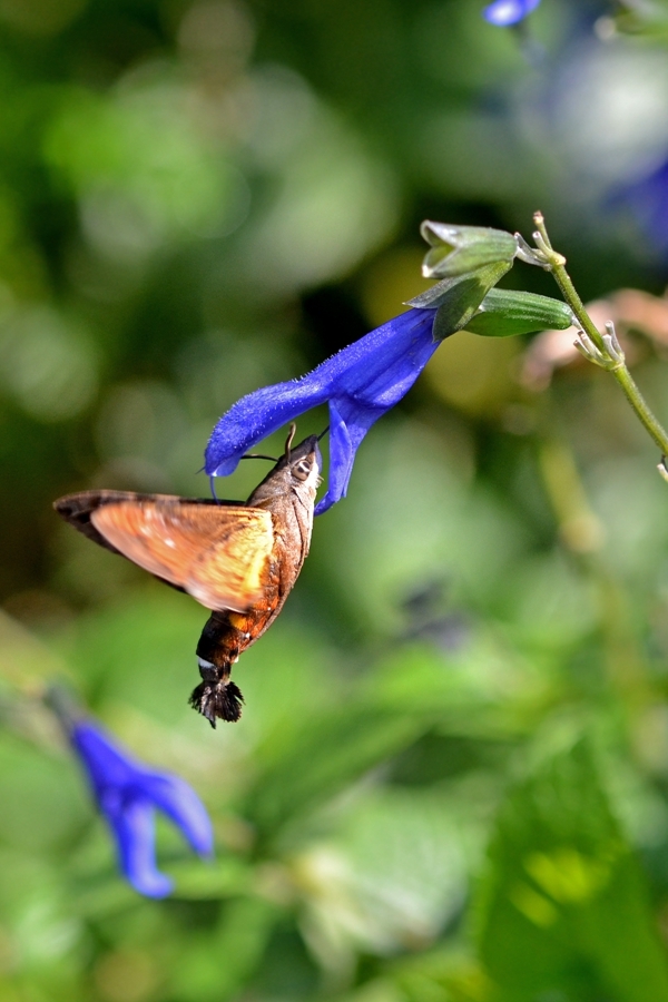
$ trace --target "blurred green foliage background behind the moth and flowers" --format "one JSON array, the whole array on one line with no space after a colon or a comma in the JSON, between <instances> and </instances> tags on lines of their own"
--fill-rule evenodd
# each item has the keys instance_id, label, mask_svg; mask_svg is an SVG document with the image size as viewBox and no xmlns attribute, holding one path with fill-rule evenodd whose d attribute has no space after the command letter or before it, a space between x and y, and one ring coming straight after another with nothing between
<instances>
[{"instance_id":1,"label":"blurred green foliage background behind the moth and flowers","mask_svg":"<svg viewBox=\"0 0 668 1002\"><path fill-rule=\"evenodd\" d=\"M668 1000L668 488L606 374L445 342L215 733L206 613L51 510L206 495L223 411L426 286L425 217L542 209L668 421L666 6L481 8L0 2L1 1002ZM170 898L118 875L50 679L206 803L214 863L159 823Z\"/></svg>"}]
</instances>

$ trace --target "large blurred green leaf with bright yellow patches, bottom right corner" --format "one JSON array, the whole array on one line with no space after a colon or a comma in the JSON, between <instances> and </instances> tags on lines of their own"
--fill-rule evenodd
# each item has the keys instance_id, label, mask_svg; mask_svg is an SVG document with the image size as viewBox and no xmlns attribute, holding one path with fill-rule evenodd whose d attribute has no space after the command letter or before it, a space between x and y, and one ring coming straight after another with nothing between
<instances>
[{"instance_id":1,"label":"large blurred green leaf with bright yellow patches, bottom right corner","mask_svg":"<svg viewBox=\"0 0 668 1002\"><path fill-rule=\"evenodd\" d=\"M584 741L509 795L479 892L478 936L503 998L668 1000L647 886Z\"/></svg>"}]
</instances>

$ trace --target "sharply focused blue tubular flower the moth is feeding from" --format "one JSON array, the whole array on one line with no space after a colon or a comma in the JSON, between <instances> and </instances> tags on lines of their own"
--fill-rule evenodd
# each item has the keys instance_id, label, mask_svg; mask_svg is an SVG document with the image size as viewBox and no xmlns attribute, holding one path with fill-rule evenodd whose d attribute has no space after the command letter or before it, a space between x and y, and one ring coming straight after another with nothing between
<instances>
[{"instance_id":1,"label":"sharply focused blue tubular flower the moth is feeding from","mask_svg":"<svg viewBox=\"0 0 668 1002\"><path fill-rule=\"evenodd\" d=\"M330 483L322 514L345 497L355 452L372 424L409 392L440 341L436 310L410 310L350 344L299 380L243 396L220 418L205 452L209 477L233 473L248 448L298 414L330 404Z\"/></svg>"}]
</instances>

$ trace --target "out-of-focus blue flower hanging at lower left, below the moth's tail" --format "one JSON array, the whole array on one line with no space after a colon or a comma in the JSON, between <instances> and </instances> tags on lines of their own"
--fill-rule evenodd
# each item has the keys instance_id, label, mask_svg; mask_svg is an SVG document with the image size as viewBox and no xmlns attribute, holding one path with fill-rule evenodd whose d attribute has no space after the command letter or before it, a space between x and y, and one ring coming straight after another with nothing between
<instances>
[{"instance_id":1,"label":"out-of-focus blue flower hanging at lower left, below the moth's tail","mask_svg":"<svg viewBox=\"0 0 668 1002\"><path fill-rule=\"evenodd\" d=\"M178 776L132 762L89 720L70 721L68 730L114 834L122 873L140 894L165 897L173 882L156 867L154 811L163 811L195 852L208 856L214 836L202 800Z\"/></svg>"}]
</instances>

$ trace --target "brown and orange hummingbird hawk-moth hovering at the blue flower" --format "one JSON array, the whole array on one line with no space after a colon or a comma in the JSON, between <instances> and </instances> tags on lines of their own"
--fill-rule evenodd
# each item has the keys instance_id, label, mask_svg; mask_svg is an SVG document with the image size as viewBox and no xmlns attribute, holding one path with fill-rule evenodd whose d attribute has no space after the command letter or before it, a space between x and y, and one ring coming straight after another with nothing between
<instances>
[{"instance_id":1,"label":"brown and orange hummingbird hawk-moth hovering at the blue flower","mask_svg":"<svg viewBox=\"0 0 668 1002\"><path fill-rule=\"evenodd\" d=\"M232 666L269 628L308 553L322 458L316 435L291 449L293 434L246 504L129 491L53 502L88 539L210 610L196 651L203 680L190 705L212 727L242 716Z\"/></svg>"}]
</instances>

